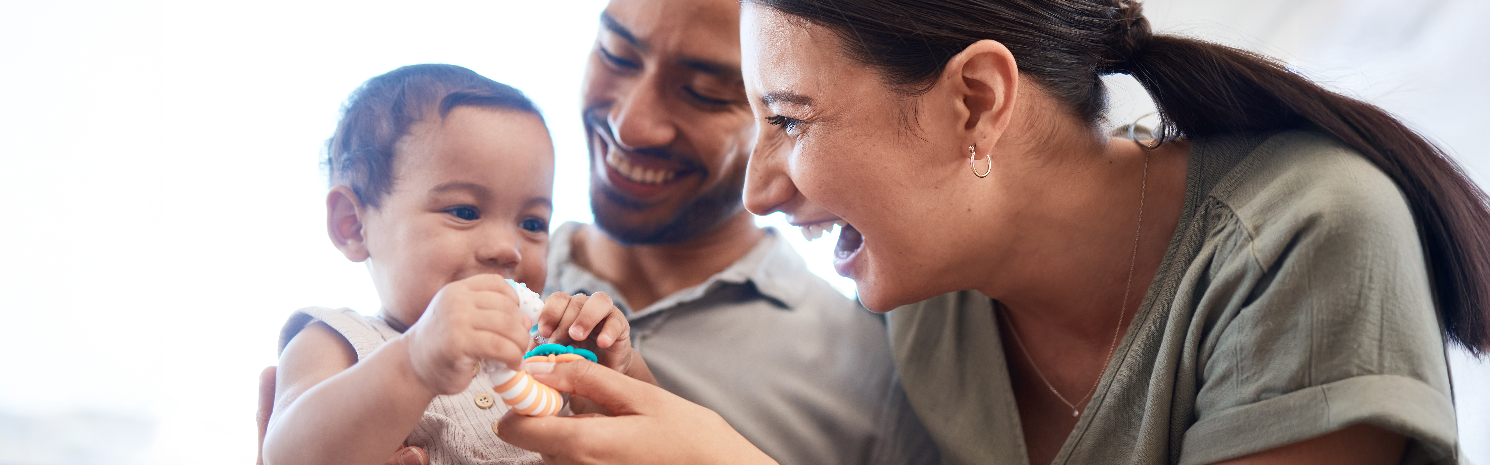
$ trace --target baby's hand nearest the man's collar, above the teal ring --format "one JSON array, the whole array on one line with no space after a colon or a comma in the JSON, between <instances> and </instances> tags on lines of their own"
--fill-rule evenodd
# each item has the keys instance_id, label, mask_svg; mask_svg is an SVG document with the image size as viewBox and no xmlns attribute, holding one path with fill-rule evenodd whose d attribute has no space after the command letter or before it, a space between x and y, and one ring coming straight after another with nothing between
<instances>
[{"instance_id":1,"label":"baby's hand nearest the man's collar, above the teal ring","mask_svg":"<svg viewBox=\"0 0 1490 465\"><path fill-rule=\"evenodd\" d=\"M632 325L605 292L569 295L554 292L538 314L538 335L554 344L572 344L595 352L600 365L627 373L632 367Z\"/></svg>"}]
</instances>

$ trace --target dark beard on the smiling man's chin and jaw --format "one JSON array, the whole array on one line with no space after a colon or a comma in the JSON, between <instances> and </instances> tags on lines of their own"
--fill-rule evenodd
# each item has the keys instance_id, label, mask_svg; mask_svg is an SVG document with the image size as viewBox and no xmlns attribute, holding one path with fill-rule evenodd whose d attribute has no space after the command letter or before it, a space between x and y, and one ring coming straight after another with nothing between
<instances>
[{"instance_id":1,"label":"dark beard on the smiling man's chin and jaw","mask_svg":"<svg viewBox=\"0 0 1490 465\"><path fill-rule=\"evenodd\" d=\"M605 170L603 165L599 168ZM605 231L606 235L623 246L675 244L703 237L724 224L726 219L739 213L745 209L744 195L745 176L735 176L679 206L669 219L650 225L627 225L621 221L624 213L606 215L599 197L605 197L605 201L609 201L611 207L618 210L639 212L647 206L638 204L603 185L596 185L590 189L590 212L595 213L595 224L600 227L600 231Z\"/></svg>"}]
</instances>

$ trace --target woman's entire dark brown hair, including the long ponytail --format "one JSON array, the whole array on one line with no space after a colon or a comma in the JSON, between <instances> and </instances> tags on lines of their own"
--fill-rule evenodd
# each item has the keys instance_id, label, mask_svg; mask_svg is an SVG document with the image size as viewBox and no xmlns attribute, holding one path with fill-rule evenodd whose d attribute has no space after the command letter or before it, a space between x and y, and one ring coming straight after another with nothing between
<instances>
[{"instance_id":1,"label":"woman's entire dark brown hair, including the long ponytail","mask_svg":"<svg viewBox=\"0 0 1490 465\"><path fill-rule=\"evenodd\" d=\"M1159 139L1305 128L1329 134L1402 189L1433 282L1438 319L1475 355L1490 352L1490 212L1442 151L1381 109L1331 92L1247 51L1153 34L1132 0L746 0L833 30L848 57L913 95L983 39L1095 124L1103 75L1132 75L1159 107Z\"/></svg>"}]
</instances>

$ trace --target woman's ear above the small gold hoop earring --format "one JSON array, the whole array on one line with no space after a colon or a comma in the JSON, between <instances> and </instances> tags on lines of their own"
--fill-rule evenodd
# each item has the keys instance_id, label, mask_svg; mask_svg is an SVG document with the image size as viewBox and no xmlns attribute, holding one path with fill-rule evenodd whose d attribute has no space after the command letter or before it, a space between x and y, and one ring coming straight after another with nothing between
<instances>
[{"instance_id":1,"label":"woman's ear above the small gold hoop earring","mask_svg":"<svg viewBox=\"0 0 1490 465\"><path fill-rule=\"evenodd\" d=\"M1003 137L1013 115L1019 88L1019 66L1003 43L979 40L948 60L942 80L960 98L958 109L968 142L988 151Z\"/></svg>"}]
</instances>

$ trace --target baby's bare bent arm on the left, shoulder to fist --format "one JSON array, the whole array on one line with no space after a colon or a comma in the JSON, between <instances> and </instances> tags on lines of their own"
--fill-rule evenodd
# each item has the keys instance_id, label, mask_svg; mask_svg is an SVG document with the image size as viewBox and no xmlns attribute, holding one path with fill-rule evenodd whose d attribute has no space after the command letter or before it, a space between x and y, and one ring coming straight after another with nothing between
<instances>
[{"instance_id":1,"label":"baby's bare bent arm on the left, shoulder to fist","mask_svg":"<svg viewBox=\"0 0 1490 465\"><path fill-rule=\"evenodd\" d=\"M305 326L280 356L264 464L383 464L435 395L469 386L478 361L516 367L527 325L502 277L483 274L443 288L362 362L329 326Z\"/></svg>"}]
</instances>

